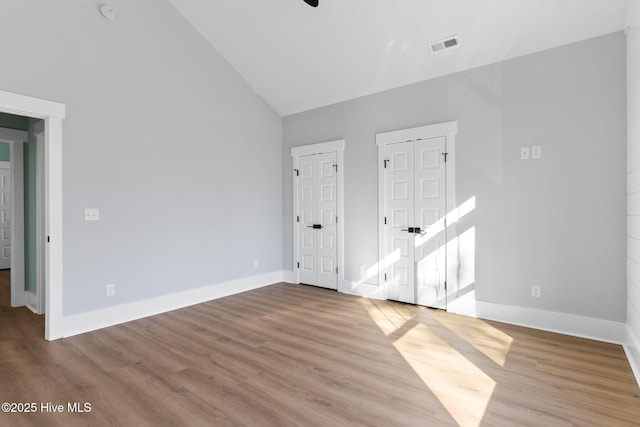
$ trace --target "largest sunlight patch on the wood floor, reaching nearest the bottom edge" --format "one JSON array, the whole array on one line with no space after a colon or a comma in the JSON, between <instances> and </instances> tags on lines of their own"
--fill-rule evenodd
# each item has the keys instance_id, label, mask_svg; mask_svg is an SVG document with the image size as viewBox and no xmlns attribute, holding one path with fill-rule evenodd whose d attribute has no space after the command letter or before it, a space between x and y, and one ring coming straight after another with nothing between
<instances>
[{"instance_id":1,"label":"largest sunlight patch on the wood floor, reaching nearest the bottom edge","mask_svg":"<svg viewBox=\"0 0 640 427\"><path fill-rule=\"evenodd\" d=\"M479 426L496 383L422 323L394 347L462 426Z\"/></svg>"}]
</instances>

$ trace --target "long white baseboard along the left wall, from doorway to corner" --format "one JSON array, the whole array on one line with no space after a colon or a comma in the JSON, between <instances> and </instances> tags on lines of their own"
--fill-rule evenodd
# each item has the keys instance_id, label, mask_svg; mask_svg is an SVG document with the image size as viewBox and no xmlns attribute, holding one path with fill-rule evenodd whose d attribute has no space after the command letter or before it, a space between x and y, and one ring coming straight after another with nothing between
<instances>
[{"instance_id":1,"label":"long white baseboard along the left wall, from doorway to corner","mask_svg":"<svg viewBox=\"0 0 640 427\"><path fill-rule=\"evenodd\" d=\"M272 273L189 289L184 292L149 298L143 301L108 307L88 313L64 316L62 318L62 336L66 338L120 323L142 319L143 317L166 313L217 298L272 285L282 282L282 279L283 271L274 271Z\"/></svg>"}]
</instances>

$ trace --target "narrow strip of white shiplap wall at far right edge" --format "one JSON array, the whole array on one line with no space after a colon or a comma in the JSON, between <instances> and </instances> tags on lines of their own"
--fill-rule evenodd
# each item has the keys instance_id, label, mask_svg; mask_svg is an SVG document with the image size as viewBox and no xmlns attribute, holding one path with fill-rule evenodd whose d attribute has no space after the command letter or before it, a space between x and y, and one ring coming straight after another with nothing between
<instances>
[{"instance_id":1,"label":"narrow strip of white shiplap wall at far right edge","mask_svg":"<svg viewBox=\"0 0 640 427\"><path fill-rule=\"evenodd\" d=\"M627 33L627 343L640 369L640 4L629 2ZM636 370L640 383L640 371Z\"/></svg>"}]
</instances>

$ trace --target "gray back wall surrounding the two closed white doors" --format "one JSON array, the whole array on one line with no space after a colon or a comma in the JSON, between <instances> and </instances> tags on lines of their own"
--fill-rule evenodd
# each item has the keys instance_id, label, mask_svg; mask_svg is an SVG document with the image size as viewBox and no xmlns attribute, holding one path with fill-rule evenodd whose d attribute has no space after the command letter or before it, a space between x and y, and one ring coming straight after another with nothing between
<instances>
[{"instance_id":1,"label":"gray back wall surrounding the two closed white doors","mask_svg":"<svg viewBox=\"0 0 640 427\"><path fill-rule=\"evenodd\" d=\"M345 273L377 262L375 134L458 121L456 199L476 197L476 298L626 320L625 39L616 33L284 118L292 146L344 138ZM543 158L521 161L519 147ZM532 298L531 286L542 287Z\"/></svg>"}]
</instances>

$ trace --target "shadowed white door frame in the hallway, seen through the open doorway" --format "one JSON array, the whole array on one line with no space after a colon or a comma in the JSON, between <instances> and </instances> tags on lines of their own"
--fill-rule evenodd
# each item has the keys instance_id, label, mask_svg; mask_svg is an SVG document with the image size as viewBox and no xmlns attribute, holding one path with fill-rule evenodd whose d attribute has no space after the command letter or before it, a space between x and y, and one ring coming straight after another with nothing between
<instances>
[{"instance_id":1,"label":"shadowed white door frame in the hallway, seen through the open doorway","mask_svg":"<svg viewBox=\"0 0 640 427\"><path fill-rule=\"evenodd\" d=\"M0 128L0 141L10 144L11 164L11 307L26 304L24 289L24 143L29 133Z\"/></svg>"}]
</instances>

